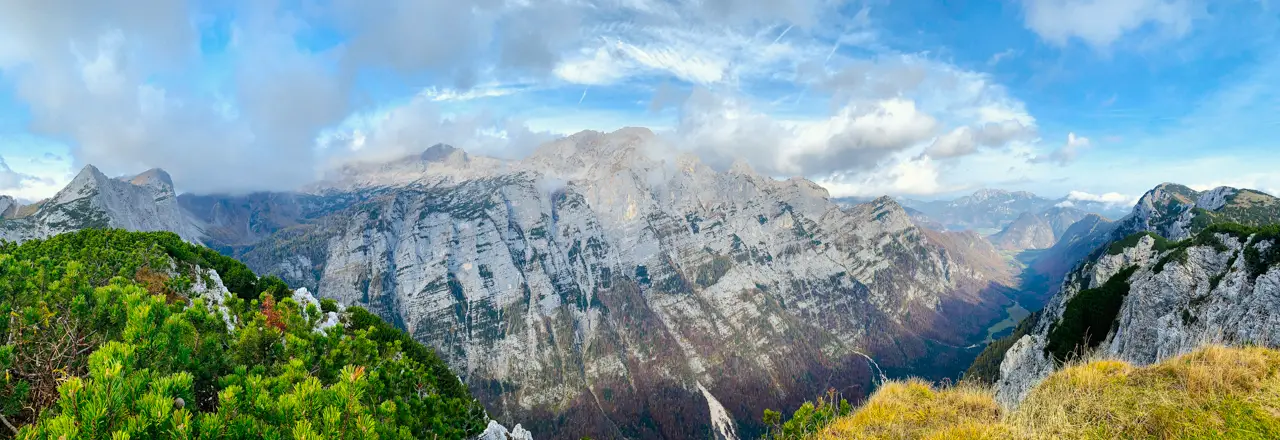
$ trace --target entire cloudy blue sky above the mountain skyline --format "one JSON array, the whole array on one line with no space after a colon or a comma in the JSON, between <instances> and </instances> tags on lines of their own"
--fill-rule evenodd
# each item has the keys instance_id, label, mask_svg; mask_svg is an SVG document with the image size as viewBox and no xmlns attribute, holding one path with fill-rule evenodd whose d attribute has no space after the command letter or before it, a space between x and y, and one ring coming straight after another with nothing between
<instances>
[{"instance_id":1,"label":"entire cloudy blue sky above the mountain skyline","mask_svg":"<svg viewBox=\"0 0 1280 440\"><path fill-rule=\"evenodd\" d=\"M626 125L837 196L1275 193L1277 37L1265 0L5 3L0 193L84 164L292 189Z\"/></svg>"}]
</instances>

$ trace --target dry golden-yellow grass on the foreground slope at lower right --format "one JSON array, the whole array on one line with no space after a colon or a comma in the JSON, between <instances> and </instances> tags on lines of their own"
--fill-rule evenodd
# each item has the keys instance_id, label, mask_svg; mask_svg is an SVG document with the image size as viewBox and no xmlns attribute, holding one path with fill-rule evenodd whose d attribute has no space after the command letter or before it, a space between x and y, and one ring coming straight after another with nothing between
<instances>
[{"instance_id":1,"label":"dry golden-yellow grass on the foreground slope at lower right","mask_svg":"<svg viewBox=\"0 0 1280 440\"><path fill-rule=\"evenodd\" d=\"M1280 439L1280 352L1206 347L1149 367L1083 362L1018 409L989 390L884 385L817 439Z\"/></svg>"}]
</instances>

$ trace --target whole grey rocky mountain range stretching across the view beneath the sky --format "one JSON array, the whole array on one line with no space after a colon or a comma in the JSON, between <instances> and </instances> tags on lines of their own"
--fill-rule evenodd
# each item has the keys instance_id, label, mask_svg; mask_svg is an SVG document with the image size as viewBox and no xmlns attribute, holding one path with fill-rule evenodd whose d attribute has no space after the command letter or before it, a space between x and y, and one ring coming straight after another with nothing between
<instances>
[{"instance_id":1,"label":"whole grey rocky mountain range stretching across the view beneath the sky","mask_svg":"<svg viewBox=\"0 0 1280 440\"><path fill-rule=\"evenodd\" d=\"M946 202L832 198L745 162L712 169L628 128L577 133L522 160L436 145L348 164L297 192L179 196L163 170L108 178L86 166L46 201L0 198L0 238L174 232L404 329L493 418L538 437L739 439L765 428L763 409L828 389L858 399L886 377L956 377L1010 307L1047 303L1036 326L1020 326L1034 335L1014 335L1033 342L1000 353L1010 366L1002 395L1016 397L1051 370L1034 353L1071 295L1123 269L1100 251L1108 243L1280 221L1275 198L1248 189L1164 184L1128 215L1066 202L1002 191ZM1221 239L1240 255L1271 255L1261 240ZM1140 262L1135 274L1155 272L1152 260L1188 271L1248 260L1225 263L1228 251L1201 244L1166 258L1153 243L1121 252ZM1027 256L1021 272L1010 253ZM1267 276L1219 283L1258 292ZM1166 284L1140 289L1155 295ZM1161 324L1165 334L1126 347L1153 339L1181 349L1167 334L1240 316L1224 307L1188 308L1185 326ZM1142 313L1133 325L1169 318Z\"/></svg>"}]
</instances>

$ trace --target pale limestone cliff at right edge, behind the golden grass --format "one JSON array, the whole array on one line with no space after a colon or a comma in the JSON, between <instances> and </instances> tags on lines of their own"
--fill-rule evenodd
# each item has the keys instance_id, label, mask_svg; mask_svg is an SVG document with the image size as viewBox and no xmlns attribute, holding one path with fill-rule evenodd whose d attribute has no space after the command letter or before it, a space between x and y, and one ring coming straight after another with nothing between
<instances>
[{"instance_id":1,"label":"pale limestone cliff at right edge, behind the golden grass","mask_svg":"<svg viewBox=\"0 0 1280 440\"><path fill-rule=\"evenodd\" d=\"M1242 193L1252 200L1249 215L1238 203ZM1092 260L1066 276L1032 334L1006 353L997 398L1016 404L1053 371L1046 347L1053 329L1064 325L1064 311L1082 290L1128 274L1126 267L1135 270L1126 279L1126 294L1111 326L1089 329L1106 335L1096 348L1103 356L1148 365L1204 343L1275 345L1280 342L1276 234L1198 232L1207 225L1193 220L1229 216L1267 224L1275 206L1270 196L1231 188L1187 193L1166 184L1149 192L1134 214L1119 223L1119 232L1148 228L1187 240L1170 244L1164 237L1128 235L1135 239L1094 251Z\"/></svg>"}]
</instances>

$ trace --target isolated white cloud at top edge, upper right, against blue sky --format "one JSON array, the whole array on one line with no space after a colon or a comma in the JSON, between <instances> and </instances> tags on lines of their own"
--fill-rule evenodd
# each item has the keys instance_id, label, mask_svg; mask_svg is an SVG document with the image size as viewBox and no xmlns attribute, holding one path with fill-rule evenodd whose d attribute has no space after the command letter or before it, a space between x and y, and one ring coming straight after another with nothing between
<instances>
[{"instance_id":1,"label":"isolated white cloud at top edge, upper right, against blue sky","mask_svg":"<svg viewBox=\"0 0 1280 440\"><path fill-rule=\"evenodd\" d=\"M1096 49L1147 27L1181 37L1196 8L1192 0L1023 0L1025 24L1042 38L1059 46L1078 38Z\"/></svg>"}]
</instances>

